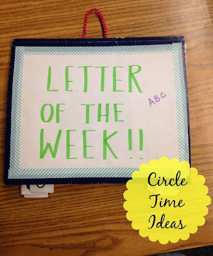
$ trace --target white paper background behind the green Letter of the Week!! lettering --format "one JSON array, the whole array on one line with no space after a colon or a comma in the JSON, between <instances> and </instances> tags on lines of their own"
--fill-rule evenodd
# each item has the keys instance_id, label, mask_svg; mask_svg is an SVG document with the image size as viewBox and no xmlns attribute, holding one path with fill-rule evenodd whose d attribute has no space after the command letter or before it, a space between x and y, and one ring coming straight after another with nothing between
<instances>
[{"instance_id":1,"label":"white paper background behind the green Letter of the Week!! lettering","mask_svg":"<svg viewBox=\"0 0 213 256\"><path fill-rule=\"evenodd\" d=\"M139 93L132 82L132 93L128 91L128 66L139 65L140 73L135 74L142 93ZM47 91L47 74L51 66L51 89ZM65 66L69 69L69 83L71 91L65 91ZM88 68L88 91L83 92L84 73L79 66L108 66L105 69L105 91L100 91L101 68ZM113 92L113 67L117 68L117 90ZM149 98L166 95L160 102L151 107ZM105 114L105 104L110 104L109 122L105 117L98 122L98 104L102 104ZM53 120L42 122L40 110L42 105L51 104L54 107ZM60 105L60 123L56 123L56 104ZM90 123L85 123L85 106L81 104L95 104L90 107ZM118 105L118 119L115 122L114 105ZM46 118L49 110L46 108ZM40 131L44 129L44 146L47 142L55 145L58 130L62 130L56 158L49 152L40 158ZM132 129L132 151L128 145L128 129ZM139 150L139 129L143 131L143 150ZM71 154L66 158L66 131L71 134ZM87 132L87 156L83 158L83 130ZM103 160L103 130L107 135L117 131L108 140L117 159L107 149L107 160ZM173 54L146 55L73 55L46 56L24 55L24 72L22 80L21 105L21 154L20 169L32 168L69 168L69 167L139 167L141 163L148 163L151 159L162 156L178 158L178 126L175 96L175 77ZM133 159L130 159L133 158ZM140 159L142 158L142 159Z\"/></svg>"}]
</instances>

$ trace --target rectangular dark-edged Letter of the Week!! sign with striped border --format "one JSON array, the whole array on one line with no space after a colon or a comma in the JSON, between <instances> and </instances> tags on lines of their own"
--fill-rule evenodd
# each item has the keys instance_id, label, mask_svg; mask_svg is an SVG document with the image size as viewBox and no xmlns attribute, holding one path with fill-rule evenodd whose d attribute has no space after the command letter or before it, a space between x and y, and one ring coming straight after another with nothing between
<instances>
[{"instance_id":1,"label":"rectangular dark-edged Letter of the Week!! sign with striped border","mask_svg":"<svg viewBox=\"0 0 213 256\"><path fill-rule=\"evenodd\" d=\"M15 39L4 184L123 183L190 161L183 37Z\"/></svg>"}]
</instances>

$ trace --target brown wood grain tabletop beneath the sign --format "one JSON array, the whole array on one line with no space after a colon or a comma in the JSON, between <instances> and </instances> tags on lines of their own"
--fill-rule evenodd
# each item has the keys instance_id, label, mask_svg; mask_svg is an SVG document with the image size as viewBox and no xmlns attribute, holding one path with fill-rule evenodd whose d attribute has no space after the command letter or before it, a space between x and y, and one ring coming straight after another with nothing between
<instances>
[{"instance_id":1,"label":"brown wood grain tabletop beneath the sign","mask_svg":"<svg viewBox=\"0 0 213 256\"><path fill-rule=\"evenodd\" d=\"M151 255L213 243L213 207L187 241L167 245L140 237L126 220L126 185L55 185L48 199L24 199L3 185L6 93L13 38L80 38L83 19L99 8L109 37L184 35L191 163L212 197L213 48L211 0L0 1L0 255ZM87 37L102 37L96 14Z\"/></svg>"}]
</instances>

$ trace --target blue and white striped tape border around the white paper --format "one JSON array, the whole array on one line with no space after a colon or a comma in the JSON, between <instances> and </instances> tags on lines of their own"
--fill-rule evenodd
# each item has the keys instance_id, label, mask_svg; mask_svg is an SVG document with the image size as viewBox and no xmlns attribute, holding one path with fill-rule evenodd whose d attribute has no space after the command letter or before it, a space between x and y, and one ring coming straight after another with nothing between
<instances>
[{"instance_id":1,"label":"blue and white striped tape border around the white paper","mask_svg":"<svg viewBox=\"0 0 213 256\"><path fill-rule=\"evenodd\" d=\"M137 46L94 46L94 47L49 47L16 46L12 93L11 149L9 179L42 178L130 178L133 168L57 168L19 169L20 129L21 129L21 89L24 55L129 55L173 53L175 87L178 115L179 160L189 161L189 138L187 125L187 105L183 75L182 43Z\"/></svg>"}]
</instances>

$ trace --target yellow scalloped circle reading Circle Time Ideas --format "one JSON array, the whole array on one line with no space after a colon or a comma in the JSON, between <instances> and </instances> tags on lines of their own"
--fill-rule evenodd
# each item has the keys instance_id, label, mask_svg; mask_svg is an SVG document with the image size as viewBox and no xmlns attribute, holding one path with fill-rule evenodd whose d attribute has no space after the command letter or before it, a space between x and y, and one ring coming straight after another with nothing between
<instances>
[{"instance_id":1,"label":"yellow scalloped circle reading Circle Time Ideas","mask_svg":"<svg viewBox=\"0 0 213 256\"><path fill-rule=\"evenodd\" d=\"M196 233L198 226L205 224L203 216L209 212L211 199L204 183L204 176L190 168L187 161L162 157L148 165L143 163L126 183L126 218L141 237L149 237L150 241L167 244L187 240L190 233Z\"/></svg>"}]
</instances>

